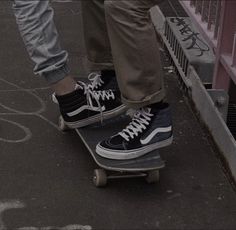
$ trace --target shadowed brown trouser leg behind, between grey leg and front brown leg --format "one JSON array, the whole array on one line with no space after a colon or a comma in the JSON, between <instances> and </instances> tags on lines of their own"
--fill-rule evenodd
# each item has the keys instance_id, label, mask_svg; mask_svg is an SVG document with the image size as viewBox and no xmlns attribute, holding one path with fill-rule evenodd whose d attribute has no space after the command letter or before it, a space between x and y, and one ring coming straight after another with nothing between
<instances>
[{"instance_id":1,"label":"shadowed brown trouser leg behind, between grey leg and front brown leg","mask_svg":"<svg viewBox=\"0 0 236 230\"><path fill-rule=\"evenodd\" d=\"M91 71L114 69L104 0L81 1L85 46Z\"/></svg>"}]
</instances>

